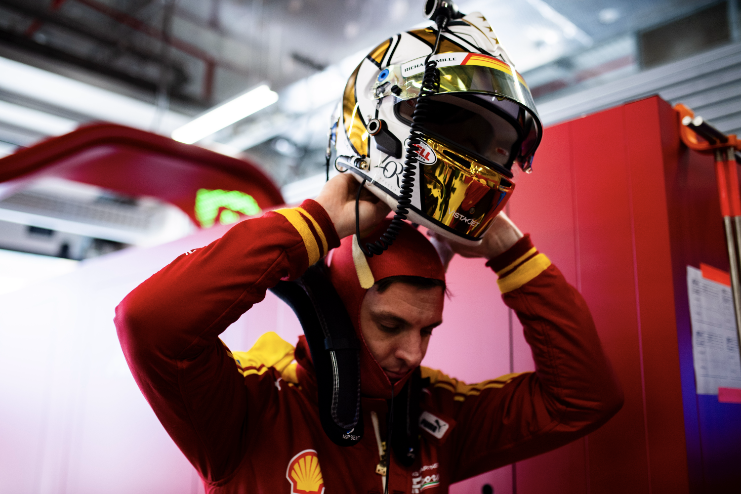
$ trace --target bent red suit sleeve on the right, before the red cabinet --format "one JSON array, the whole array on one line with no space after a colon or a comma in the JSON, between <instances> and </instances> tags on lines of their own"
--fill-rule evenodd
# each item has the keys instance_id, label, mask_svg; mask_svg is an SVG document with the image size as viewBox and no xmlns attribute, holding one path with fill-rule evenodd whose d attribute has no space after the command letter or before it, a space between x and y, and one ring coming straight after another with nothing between
<instances>
[{"instance_id":1,"label":"bent red suit sleeve on the right, before the red cabinet","mask_svg":"<svg viewBox=\"0 0 741 494\"><path fill-rule=\"evenodd\" d=\"M622 407L622 390L584 298L529 236L516 236L487 265L522 323L536 370L475 385L432 376L442 382L434 388L436 407L456 421L451 481L574 441Z\"/></svg>"}]
</instances>

